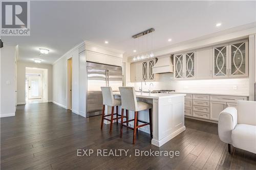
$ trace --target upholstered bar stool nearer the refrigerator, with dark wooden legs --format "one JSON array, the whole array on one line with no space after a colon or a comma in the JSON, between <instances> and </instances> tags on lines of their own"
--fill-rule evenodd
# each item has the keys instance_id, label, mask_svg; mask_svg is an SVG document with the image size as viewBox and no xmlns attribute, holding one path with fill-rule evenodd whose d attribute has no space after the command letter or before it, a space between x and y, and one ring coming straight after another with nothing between
<instances>
[{"instance_id":1,"label":"upholstered bar stool nearer the refrigerator, with dark wooden legs","mask_svg":"<svg viewBox=\"0 0 256 170\"><path fill-rule=\"evenodd\" d=\"M102 117L101 117L101 129L103 127L103 120L108 120L110 121L110 134L112 133L112 124L113 120L116 120L116 123L118 124L118 119L121 116L118 114L118 106L121 106L121 100L120 99L114 99L114 95L112 92L111 87L100 87L102 91L102 98L103 98L103 108L102 108ZM111 106L111 114L106 114L105 115L105 105ZM114 113L114 109L116 107L116 113ZM114 118L114 115L116 117ZM111 118L106 118L107 116L111 116Z\"/></svg>"}]
</instances>

